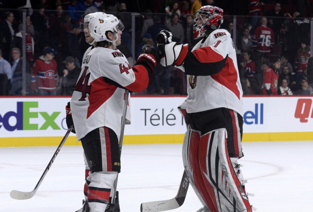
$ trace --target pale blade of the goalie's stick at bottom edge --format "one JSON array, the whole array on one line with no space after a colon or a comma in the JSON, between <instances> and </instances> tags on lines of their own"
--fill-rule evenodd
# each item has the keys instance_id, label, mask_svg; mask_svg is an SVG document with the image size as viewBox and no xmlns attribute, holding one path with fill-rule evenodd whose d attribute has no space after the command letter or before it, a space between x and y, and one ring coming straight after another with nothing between
<instances>
[{"instance_id":1,"label":"pale blade of the goalie's stick at bottom edge","mask_svg":"<svg viewBox=\"0 0 313 212\"><path fill-rule=\"evenodd\" d=\"M140 212L161 212L179 208L176 198L164 201L145 202L140 205Z\"/></svg>"}]
</instances>

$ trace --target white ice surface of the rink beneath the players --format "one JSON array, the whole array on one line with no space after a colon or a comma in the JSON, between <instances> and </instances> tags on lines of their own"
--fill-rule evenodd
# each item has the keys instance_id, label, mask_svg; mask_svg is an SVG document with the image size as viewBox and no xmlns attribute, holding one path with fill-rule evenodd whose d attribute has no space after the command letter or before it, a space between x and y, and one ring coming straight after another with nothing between
<instances>
[{"instance_id":1,"label":"white ice surface of the rink beneath the players","mask_svg":"<svg viewBox=\"0 0 313 212\"><path fill-rule=\"evenodd\" d=\"M140 203L175 197L183 173L181 144L124 145L118 178L122 212L140 212ZM81 146L64 146L37 193L15 200L10 191L30 192L56 147L0 148L0 212L75 212L81 208L84 162ZM257 212L313 211L313 141L244 142L240 159L254 193ZM201 203L189 187L173 212L196 212Z\"/></svg>"}]
</instances>

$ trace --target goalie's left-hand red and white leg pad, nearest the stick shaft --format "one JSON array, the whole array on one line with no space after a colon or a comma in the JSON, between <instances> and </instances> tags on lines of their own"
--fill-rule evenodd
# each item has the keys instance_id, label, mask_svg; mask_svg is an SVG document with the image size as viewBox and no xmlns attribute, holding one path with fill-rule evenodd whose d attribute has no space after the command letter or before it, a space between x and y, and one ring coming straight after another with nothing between
<instances>
[{"instance_id":1,"label":"goalie's left-hand red and white leg pad, nearest the stick shaft","mask_svg":"<svg viewBox=\"0 0 313 212\"><path fill-rule=\"evenodd\" d=\"M195 193L200 199L202 205L213 205L214 209L217 208L215 198L212 199L204 185L204 181L200 169L199 161L199 149L200 146L200 135L199 131L188 130L185 134L183 147L182 147L182 158L185 171L188 173L188 180L193 187ZM210 192L214 193L212 188ZM217 212L216 210L212 212Z\"/></svg>"}]
</instances>

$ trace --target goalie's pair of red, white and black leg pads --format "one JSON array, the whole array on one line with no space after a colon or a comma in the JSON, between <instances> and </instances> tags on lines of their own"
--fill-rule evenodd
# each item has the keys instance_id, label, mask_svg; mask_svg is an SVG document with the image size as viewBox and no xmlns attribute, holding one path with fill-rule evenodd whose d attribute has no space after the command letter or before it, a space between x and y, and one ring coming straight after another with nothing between
<instances>
[{"instance_id":1,"label":"goalie's pair of red, white and black leg pads","mask_svg":"<svg viewBox=\"0 0 313 212\"><path fill-rule=\"evenodd\" d=\"M189 181L201 203L211 212L251 212L243 181L237 177L239 165L235 170L233 164L237 163L228 156L226 137L224 128L202 136L199 131L188 130L182 149L183 164L191 173Z\"/></svg>"}]
</instances>

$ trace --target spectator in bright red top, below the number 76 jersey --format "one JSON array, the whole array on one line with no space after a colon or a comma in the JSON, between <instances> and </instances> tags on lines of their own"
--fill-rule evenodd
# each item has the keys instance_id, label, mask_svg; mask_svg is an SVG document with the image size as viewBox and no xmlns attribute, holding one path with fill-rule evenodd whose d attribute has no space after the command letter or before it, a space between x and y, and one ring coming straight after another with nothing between
<instances>
[{"instance_id":1,"label":"spectator in bright red top, below the number 76 jersey","mask_svg":"<svg viewBox=\"0 0 313 212\"><path fill-rule=\"evenodd\" d=\"M263 95L277 95L277 84L278 84L278 71L280 69L281 62L279 59L273 62L272 66L267 68L263 72Z\"/></svg>"}]
</instances>

